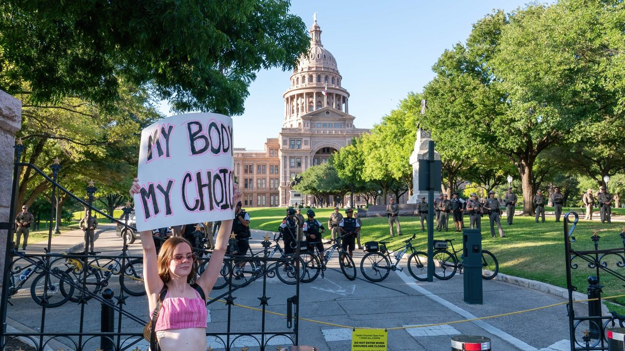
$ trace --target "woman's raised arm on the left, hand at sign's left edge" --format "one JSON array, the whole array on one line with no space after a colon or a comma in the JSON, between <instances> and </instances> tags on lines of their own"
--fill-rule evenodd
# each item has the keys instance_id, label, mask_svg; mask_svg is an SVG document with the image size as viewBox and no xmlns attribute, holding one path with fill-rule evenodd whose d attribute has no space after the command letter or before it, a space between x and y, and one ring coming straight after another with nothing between
<instances>
[{"instance_id":1,"label":"woman's raised arm on the left, hand at sign's left edge","mask_svg":"<svg viewBox=\"0 0 625 351\"><path fill-rule=\"evenodd\" d=\"M133 186L130 188L130 197L138 194L139 179L135 178ZM158 275L158 259L156 257L156 247L152 238L152 230L144 230L141 232L141 246L143 247L143 284L148 294L148 302L150 310L156 306L156 295L163 289L163 280Z\"/></svg>"}]
</instances>

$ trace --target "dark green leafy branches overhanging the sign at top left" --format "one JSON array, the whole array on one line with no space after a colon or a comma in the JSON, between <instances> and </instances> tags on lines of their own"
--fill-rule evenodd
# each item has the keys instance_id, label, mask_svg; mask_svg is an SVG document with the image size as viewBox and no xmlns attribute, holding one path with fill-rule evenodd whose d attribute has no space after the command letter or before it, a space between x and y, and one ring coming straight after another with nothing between
<instances>
[{"instance_id":1,"label":"dark green leafy branches overhanging the sign at top left","mask_svg":"<svg viewBox=\"0 0 625 351\"><path fill-rule=\"evenodd\" d=\"M114 107L123 81L175 111L243 112L256 72L293 69L309 43L287 0L0 4L0 89ZM30 89L23 89L30 84Z\"/></svg>"}]
</instances>

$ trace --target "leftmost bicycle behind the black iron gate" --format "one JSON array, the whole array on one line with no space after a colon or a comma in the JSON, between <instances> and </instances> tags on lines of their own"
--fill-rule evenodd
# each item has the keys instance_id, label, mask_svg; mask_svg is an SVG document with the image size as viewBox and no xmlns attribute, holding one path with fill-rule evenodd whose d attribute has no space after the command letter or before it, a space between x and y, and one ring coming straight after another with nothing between
<instances>
[{"instance_id":1,"label":"leftmost bicycle behind the black iron gate","mask_svg":"<svg viewBox=\"0 0 625 351\"><path fill-rule=\"evenodd\" d=\"M47 281L47 289L45 287L46 282L46 272L42 269L43 262L41 265L39 264L29 264L24 267L16 266L14 269L11 269L11 274L9 275L9 299L11 296L17 294L19 290L22 289L24 284L26 284L26 280L28 280L32 275L39 273L31 283L31 297L32 300L37 305L42 305L42 300L44 294L46 295L46 307L59 307L60 305L68 302L69 298L63 294L59 294L59 289L63 284L63 280L71 280L71 277L67 275L63 270L59 270L58 267L53 267L50 269L49 279ZM23 270L23 272L22 272ZM20 274L21 273L21 274ZM19 277L16 275L20 274ZM17 285L16 285L17 282ZM74 292L74 287L71 287L71 292Z\"/></svg>"}]
</instances>

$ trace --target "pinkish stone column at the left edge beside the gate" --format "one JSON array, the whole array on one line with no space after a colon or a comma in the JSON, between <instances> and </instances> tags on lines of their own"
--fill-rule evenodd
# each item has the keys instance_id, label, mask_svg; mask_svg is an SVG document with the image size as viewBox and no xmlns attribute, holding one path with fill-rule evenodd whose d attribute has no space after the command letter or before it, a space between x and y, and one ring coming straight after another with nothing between
<instances>
[{"instance_id":1,"label":"pinkish stone column at the left edge beside the gate","mask_svg":"<svg viewBox=\"0 0 625 351\"><path fill-rule=\"evenodd\" d=\"M22 129L22 102L0 90L0 222L12 223L11 188L13 184L13 160L15 133ZM11 230L0 230L0 272L4 272L7 235L12 237ZM0 287L2 286L0 275Z\"/></svg>"}]
</instances>

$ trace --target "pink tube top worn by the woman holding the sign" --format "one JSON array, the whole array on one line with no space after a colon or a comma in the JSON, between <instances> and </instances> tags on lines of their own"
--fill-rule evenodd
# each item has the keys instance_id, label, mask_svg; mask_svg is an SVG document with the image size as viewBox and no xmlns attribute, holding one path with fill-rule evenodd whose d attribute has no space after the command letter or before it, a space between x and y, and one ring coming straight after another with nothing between
<instances>
[{"instance_id":1,"label":"pink tube top worn by the woman holding the sign","mask_svg":"<svg viewBox=\"0 0 625 351\"><path fill-rule=\"evenodd\" d=\"M206 328L206 301L197 297L169 297L169 291L163 299L161 312L156 320L154 331L168 329Z\"/></svg>"}]
</instances>

